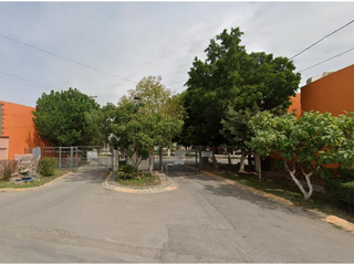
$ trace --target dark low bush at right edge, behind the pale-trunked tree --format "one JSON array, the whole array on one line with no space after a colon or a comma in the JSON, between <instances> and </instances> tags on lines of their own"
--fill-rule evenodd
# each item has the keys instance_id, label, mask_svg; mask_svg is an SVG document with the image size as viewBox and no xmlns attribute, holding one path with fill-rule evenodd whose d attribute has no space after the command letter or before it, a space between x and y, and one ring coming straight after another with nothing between
<instances>
[{"instance_id":1,"label":"dark low bush at right edge, behind the pale-trunked tree","mask_svg":"<svg viewBox=\"0 0 354 265\"><path fill-rule=\"evenodd\" d=\"M335 178L326 176L323 178L326 191L337 199L343 205L354 211L354 180L353 176Z\"/></svg>"}]
</instances>

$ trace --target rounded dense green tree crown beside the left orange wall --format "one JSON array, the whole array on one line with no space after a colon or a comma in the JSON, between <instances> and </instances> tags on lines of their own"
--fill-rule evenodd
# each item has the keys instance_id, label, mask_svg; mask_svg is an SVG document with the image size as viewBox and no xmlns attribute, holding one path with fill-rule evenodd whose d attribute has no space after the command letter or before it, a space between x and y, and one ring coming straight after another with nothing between
<instances>
[{"instance_id":1,"label":"rounded dense green tree crown beside the left orange wall","mask_svg":"<svg viewBox=\"0 0 354 265\"><path fill-rule=\"evenodd\" d=\"M76 88L43 93L37 100L33 123L39 135L54 146L88 145L95 137L87 131L85 114L98 104Z\"/></svg>"}]
</instances>

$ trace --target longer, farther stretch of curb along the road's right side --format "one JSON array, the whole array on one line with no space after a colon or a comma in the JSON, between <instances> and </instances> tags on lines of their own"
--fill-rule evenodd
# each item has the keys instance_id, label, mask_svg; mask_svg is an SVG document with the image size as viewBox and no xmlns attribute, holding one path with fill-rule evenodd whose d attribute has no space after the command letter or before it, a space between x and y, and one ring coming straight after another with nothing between
<instances>
[{"instance_id":1,"label":"longer, farther stretch of curb along the road's right side","mask_svg":"<svg viewBox=\"0 0 354 265\"><path fill-rule=\"evenodd\" d=\"M195 168L192 168L192 167L189 167L189 166L185 166L185 167L190 168L190 169L194 169L194 170L197 170L197 169L195 169ZM287 205L293 205L293 203L292 203L291 201L289 201L289 200L287 200L287 199L284 199L284 198L281 198L281 197L278 197L278 195L274 195L274 194L264 192L264 191L257 190L257 189L254 189L254 188L252 188L252 187L248 187L248 186L238 183L238 182L236 182L236 181L232 181L232 180L222 178L222 177L220 177L220 176L218 176L218 174L210 173L210 172L208 172L208 171L201 170L200 172L201 172L202 174L206 174L206 176L208 176L208 177L211 177L211 178L214 178L214 179L216 179L216 180L222 181L222 182L225 182L225 183L227 183L227 184L229 184L229 186L237 187L237 188L239 188L239 189L241 189L241 190L250 191L250 192L252 192L253 194L261 195L261 197L264 197L264 198L267 198L267 199L269 199L269 200L278 201L278 202L281 202L281 203L287 204Z\"/></svg>"}]
</instances>

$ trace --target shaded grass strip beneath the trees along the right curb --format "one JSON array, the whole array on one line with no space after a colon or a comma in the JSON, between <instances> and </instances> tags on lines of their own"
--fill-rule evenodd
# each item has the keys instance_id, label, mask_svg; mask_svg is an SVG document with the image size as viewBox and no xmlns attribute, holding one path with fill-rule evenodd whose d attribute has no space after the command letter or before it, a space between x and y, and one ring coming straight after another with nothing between
<instances>
[{"instance_id":1,"label":"shaded grass strip beneath the trees along the right curb","mask_svg":"<svg viewBox=\"0 0 354 265\"><path fill-rule=\"evenodd\" d=\"M259 181L258 176L253 173L236 172L214 172L226 179L233 180L238 183L252 187L280 198L287 199L298 206L304 209L320 210L326 214L337 215L354 222L354 214L346 211L333 197L327 193L314 191L311 199L305 201L298 186L287 179L272 179L267 176L266 180Z\"/></svg>"}]
</instances>

